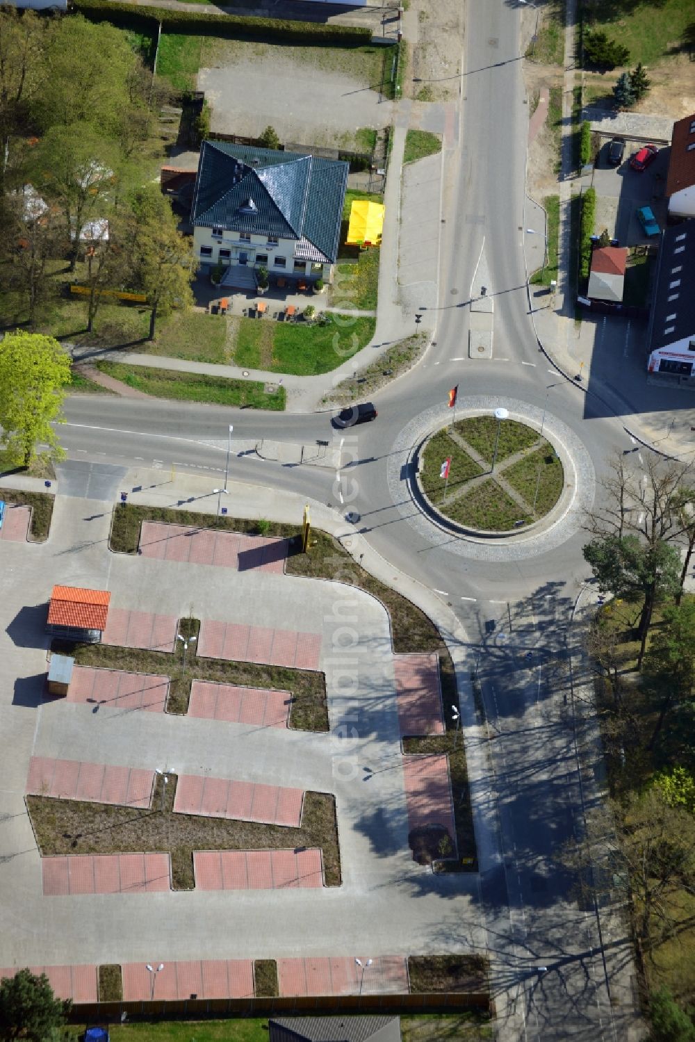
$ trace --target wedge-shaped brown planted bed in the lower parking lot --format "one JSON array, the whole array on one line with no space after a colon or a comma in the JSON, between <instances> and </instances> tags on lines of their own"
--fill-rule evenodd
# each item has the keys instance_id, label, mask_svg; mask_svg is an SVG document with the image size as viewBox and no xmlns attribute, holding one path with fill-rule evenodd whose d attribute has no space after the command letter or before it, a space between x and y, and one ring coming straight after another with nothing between
<instances>
[{"instance_id":1,"label":"wedge-shaped brown planted bed in the lower parking lot","mask_svg":"<svg viewBox=\"0 0 695 1042\"><path fill-rule=\"evenodd\" d=\"M177 776L155 775L150 808L27 796L42 857L171 852L172 889L192 890L194 850L293 850L320 847L327 887L341 885L341 861L331 793L305 792L299 827L174 814ZM163 790L164 788L164 799ZM164 807L164 810L162 809Z\"/></svg>"}]
</instances>

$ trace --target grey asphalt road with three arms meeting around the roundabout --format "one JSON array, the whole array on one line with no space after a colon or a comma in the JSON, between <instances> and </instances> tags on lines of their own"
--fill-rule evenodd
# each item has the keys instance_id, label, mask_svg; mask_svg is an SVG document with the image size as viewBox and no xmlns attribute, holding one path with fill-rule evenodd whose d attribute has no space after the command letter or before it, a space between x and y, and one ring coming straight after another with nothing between
<instances>
[{"instance_id":1,"label":"grey asphalt road with three arms meeting around the roundabout","mask_svg":"<svg viewBox=\"0 0 695 1042\"><path fill-rule=\"evenodd\" d=\"M383 557L438 591L465 625L477 665L497 779L490 794L501 861L481 885L504 1039L602 1040L619 1036L610 998L613 972L592 910L580 908L559 865L563 843L581 828L579 775L568 703L566 630L588 576L584 534L532 555L479 560L423 535L399 510L409 493L389 485L403 427L446 401L485 396L490 407L514 398L547 410L584 443L597 479L614 448L630 448L622 426L549 369L539 352L522 254L527 108L518 53L518 10L503 0L471 0L467 19L460 150L447 157L436 344L408 376L379 394L376 422L345 433L328 414L258 414L217 406L110 398L69 399L60 429L73 458L132 466L201 468L217 486L233 423L229 473L290 489L345 511ZM495 302L495 357L469 359L471 287L485 254ZM259 461L248 443L296 444L345 438L339 477L331 469ZM237 450L235 450L237 451ZM494 630L491 631L491 622ZM529 656L530 652L530 656ZM462 924L462 928L463 924ZM604 961L605 957L605 961ZM547 973L538 973L547 966Z\"/></svg>"}]
</instances>

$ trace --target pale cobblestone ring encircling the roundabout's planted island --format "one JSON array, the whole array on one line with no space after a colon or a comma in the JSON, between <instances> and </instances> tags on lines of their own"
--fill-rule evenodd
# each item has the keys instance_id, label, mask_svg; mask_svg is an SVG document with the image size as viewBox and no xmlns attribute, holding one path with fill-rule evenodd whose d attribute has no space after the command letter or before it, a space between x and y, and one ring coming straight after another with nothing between
<instances>
[{"instance_id":1,"label":"pale cobblestone ring encircling the roundabout's planted island","mask_svg":"<svg viewBox=\"0 0 695 1042\"><path fill-rule=\"evenodd\" d=\"M417 487L415 474L418 450L430 435L451 422L451 410L437 405L415 417L400 431L389 455L389 491L398 511L419 535L435 546L476 561L520 561L540 556L567 542L581 526L581 518L594 503L596 475L591 456L580 439L552 413L517 398L474 395L460 398L456 420L470 416L492 416L503 407L511 420L518 420L540 432L550 443L565 471L565 491L556 505L528 529L473 536L461 531L445 517L428 511Z\"/></svg>"}]
</instances>

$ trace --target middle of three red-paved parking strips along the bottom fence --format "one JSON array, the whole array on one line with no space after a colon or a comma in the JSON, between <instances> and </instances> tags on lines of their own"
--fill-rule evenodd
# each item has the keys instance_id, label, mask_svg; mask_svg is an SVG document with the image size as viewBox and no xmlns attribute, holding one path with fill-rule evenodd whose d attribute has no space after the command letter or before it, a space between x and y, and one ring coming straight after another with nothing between
<instances>
[{"instance_id":1,"label":"middle of three red-paved parking strips along the bottom fence","mask_svg":"<svg viewBox=\"0 0 695 1042\"><path fill-rule=\"evenodd\" d=\"M198 998L252 998L253 962L250 959L204 960L201 962L172 963L163 959L150 960L150 966L164 962L154 981L154 997L162 999ZM152 994L152 974L144 963L124 963L123 1001L149 1001Z\"/></svg>"}]
</instances>

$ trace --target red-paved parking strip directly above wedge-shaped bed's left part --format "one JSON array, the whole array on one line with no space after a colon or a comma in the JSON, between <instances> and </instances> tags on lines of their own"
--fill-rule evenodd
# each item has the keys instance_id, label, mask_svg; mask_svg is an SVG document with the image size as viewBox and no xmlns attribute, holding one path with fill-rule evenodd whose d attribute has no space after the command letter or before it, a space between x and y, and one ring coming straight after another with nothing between
<instances>
[{"instance_id":1,"label":"red-paved parking strip directly above wedge-shaped bed's left part","mask_svg":"<svg viewBox=\"0 0 695 1042\"><path fill-rule=\"evenodd\" d=\"M80 760L31 756L26 791L30 796L148 808L153 785L154 771L139 767L107 767Z\"/></svg>"}]
</instances>

